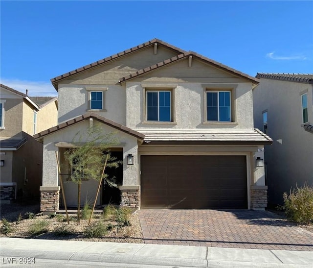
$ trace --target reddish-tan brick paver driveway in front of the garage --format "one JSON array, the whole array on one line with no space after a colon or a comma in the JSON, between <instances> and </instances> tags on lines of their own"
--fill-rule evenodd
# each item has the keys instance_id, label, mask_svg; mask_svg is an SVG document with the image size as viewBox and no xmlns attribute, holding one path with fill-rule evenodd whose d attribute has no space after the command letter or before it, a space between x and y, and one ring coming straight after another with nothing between
<instances>
[{"instance_id":1,"label":"reddish-tan brick paver driveway in front of the garage","mask_svg":"<svg viewBox=\"0 0 313 268\"><path fill-rule=\"evenodd\" d=\"M268 211L139 210L145 243L313 251L313 233Z\"/></svg>"}]
</instances>

